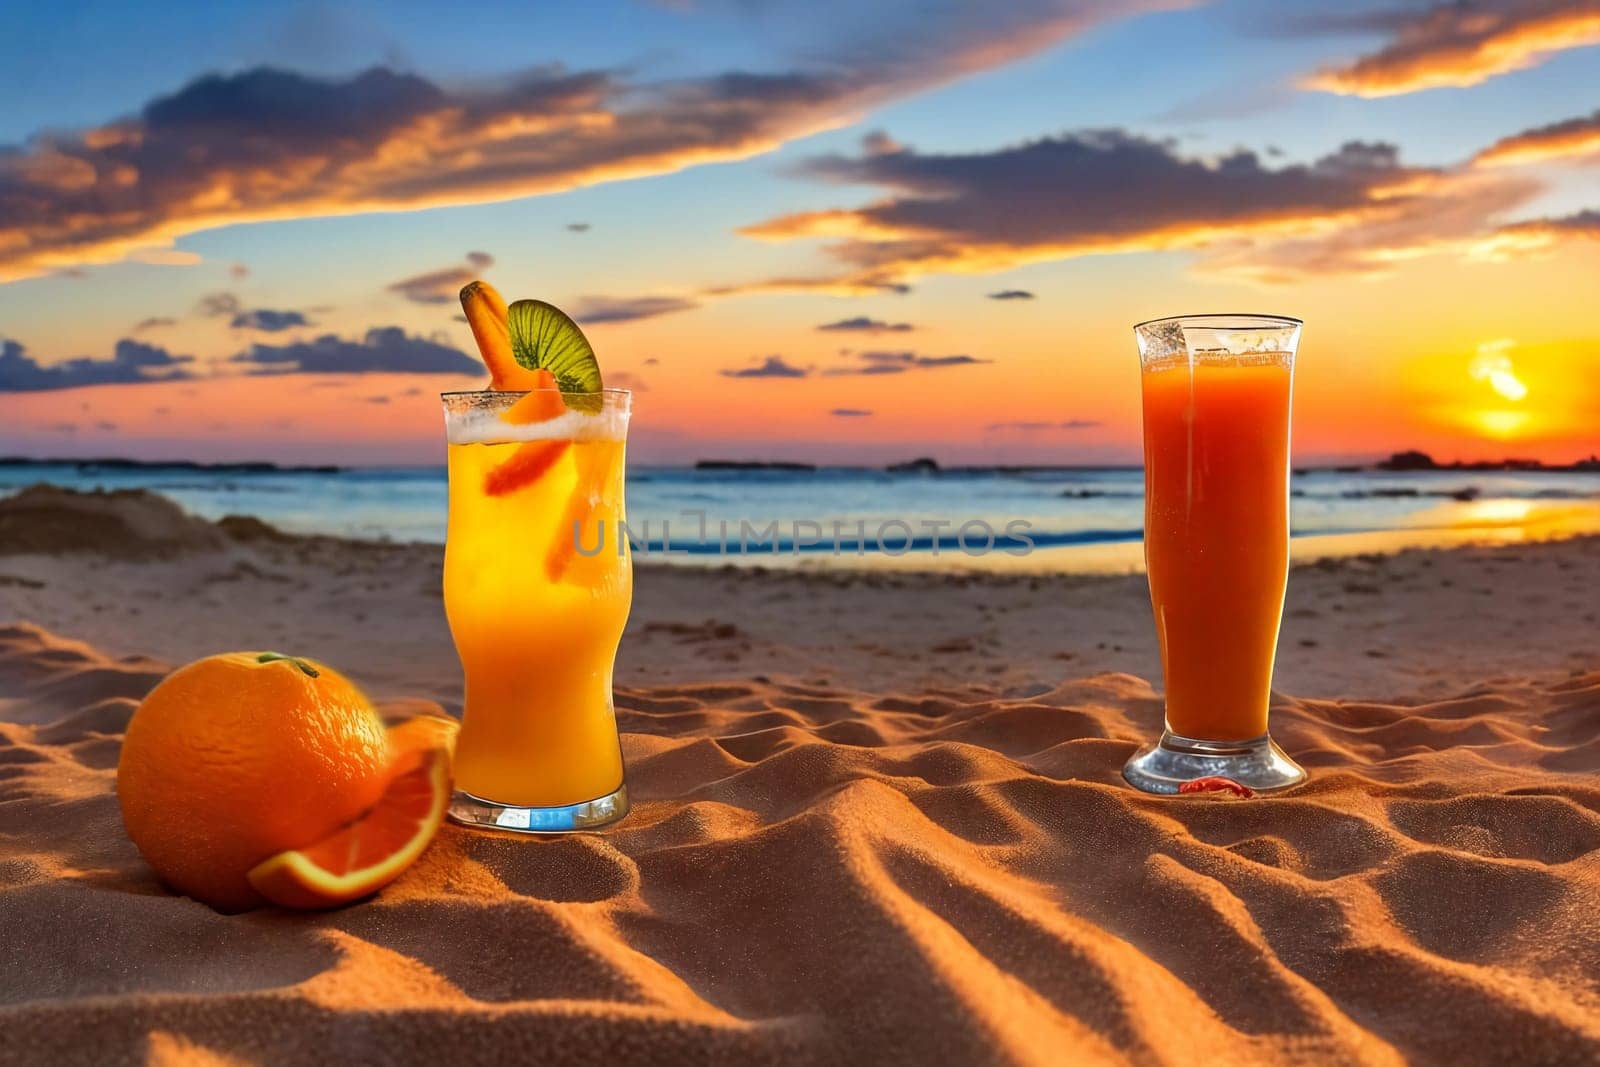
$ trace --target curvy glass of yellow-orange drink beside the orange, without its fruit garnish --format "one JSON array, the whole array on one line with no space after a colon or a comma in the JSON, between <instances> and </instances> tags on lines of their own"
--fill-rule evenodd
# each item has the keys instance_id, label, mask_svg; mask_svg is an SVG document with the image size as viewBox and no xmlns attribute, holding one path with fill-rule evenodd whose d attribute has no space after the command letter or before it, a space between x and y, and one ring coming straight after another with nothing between
<instances>
[{"instance_id":1,"label":"curvy glass of yellow-orange drink beside the orange, without its fruit garnish","mask_svg":"<svg viewBox=\"0 0 1600 1067\"><path fill-rule=\"evenodd\" d=\"M466 675L450 816L547 833L627 814L611 667L634 595L630 395L557 394L555 418L512 421L525 397L443 397L445 614Z\"/></svg>"}]
</instances>

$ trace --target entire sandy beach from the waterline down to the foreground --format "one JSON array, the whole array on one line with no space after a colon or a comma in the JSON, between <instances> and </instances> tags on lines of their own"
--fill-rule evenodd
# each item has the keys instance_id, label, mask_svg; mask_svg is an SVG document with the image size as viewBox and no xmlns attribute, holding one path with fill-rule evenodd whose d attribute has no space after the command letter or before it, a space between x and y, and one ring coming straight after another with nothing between
<instances>
[{"instance_id":1,"label":"entire sandy beach from the waterline down to the foreground","mask_svg":"<svg viewBox=\"0 0 1600 1067\"><path fill-rule=\"evenodd\" d=\"M1275 798L1165 800L1142 576L640 566L635 811L446 827L378 897L224 917L114 797L176 664L459 710L437 545L150 494L0 501L0 1061L1592 1062L1600 539L1296 566Z\"/></svg>"}]
</instances>

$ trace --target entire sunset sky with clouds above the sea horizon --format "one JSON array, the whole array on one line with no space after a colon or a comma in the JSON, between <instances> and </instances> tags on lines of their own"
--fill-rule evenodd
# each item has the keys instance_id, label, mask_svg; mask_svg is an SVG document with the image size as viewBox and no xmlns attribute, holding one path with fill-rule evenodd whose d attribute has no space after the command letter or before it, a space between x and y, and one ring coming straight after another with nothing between
<instances>
[{"instance_id":1,"label":"entire sunset sky with clouds above the sea horizon","mask_svg":"<svg viewBox=\"0 0 1600 1067\"><path fill-rule=\"evenodd\" d=\"M158 13L157 13L158 11ZM1138 459L1130 326L1306 320L1296 459L1600 450L1600 5L0 10L0 453L440 462L456 290L630 454Z\"/></svg>"}]
</instances>

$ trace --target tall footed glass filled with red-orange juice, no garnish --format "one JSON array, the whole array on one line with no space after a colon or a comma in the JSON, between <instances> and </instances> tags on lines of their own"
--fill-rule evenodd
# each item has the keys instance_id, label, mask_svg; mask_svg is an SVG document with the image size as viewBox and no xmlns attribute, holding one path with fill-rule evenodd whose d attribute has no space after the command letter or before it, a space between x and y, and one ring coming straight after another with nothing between
<instances>
[{"instance_id":1,"label":"tall footed glass filled with red-orange juice, no garnish","mask_svg":"<svg viewBox=\"0 0 1600 1067\"><path fill-rule=\"evenodd\" d=\"M1290 560L1290 397L1301 322L1184 315L1134 326L1144 397L1144 560L1166 728L1123 777L1251 790L1306 777L1267 736Z\"/></svg>"}]
</instances>

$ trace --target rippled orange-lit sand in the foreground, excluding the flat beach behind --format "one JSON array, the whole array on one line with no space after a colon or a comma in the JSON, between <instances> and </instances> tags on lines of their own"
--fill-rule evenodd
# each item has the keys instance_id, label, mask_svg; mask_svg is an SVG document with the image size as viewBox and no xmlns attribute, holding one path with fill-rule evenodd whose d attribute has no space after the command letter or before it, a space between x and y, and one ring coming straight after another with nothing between
<instances>
[{"instance_id":1,"label":"rippled orange-lit sand in the foreground, excluding the flat beach behind","mask_svg":"<svg viewBox=\"0 0 1600 1067\"><path fill-rule=\"evenodd\" d=\"M163 669L0 629L0 1061L1600 1054L1595 672L1280 697L1314 779L1267 800L1122 787L1160 720L1125 673L626 688L619 829L446 827L370 902L222 917L117 816Z\"/></svg>"}]
</instances>

